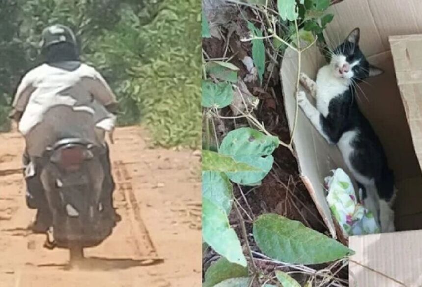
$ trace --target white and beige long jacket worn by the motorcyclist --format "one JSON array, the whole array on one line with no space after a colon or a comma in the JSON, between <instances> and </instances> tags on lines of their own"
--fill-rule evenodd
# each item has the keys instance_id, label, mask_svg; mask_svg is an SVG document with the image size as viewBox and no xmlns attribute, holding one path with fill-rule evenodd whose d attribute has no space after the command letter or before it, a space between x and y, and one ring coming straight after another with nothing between
<instances>
[{"instance_id":1,"label":"white and beige long jacket worn by the motorcyclist","mask_svg":"<svg viewBox=\"0 0 422 287\"><path fill-rule=\"evenodd\" d=\"M116 97L94 68L76 61L43 64L22 79L13 108L23 112L18 129L30 156L41 156L63 137L102 142L115 125L106 105Z\"/></svg>"}]
</instances>

